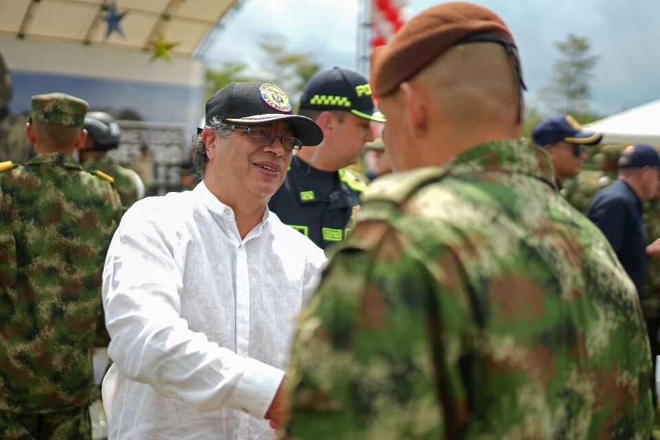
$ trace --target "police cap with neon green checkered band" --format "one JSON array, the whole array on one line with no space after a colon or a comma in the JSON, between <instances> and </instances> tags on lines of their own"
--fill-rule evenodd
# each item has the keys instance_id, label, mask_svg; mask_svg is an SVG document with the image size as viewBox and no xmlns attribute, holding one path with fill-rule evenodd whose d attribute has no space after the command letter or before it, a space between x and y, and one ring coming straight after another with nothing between
<instances>
[{"instance_id":1,"label":"police cap with neon green checkered band","mask_svg":"<svg viewBox=\"0 0 660 440\"><path fill-rule=\"evenodd\" d=\"M345 110L360 118L385 122L383 114L373 106L369 81L358 72L340 67L309 78L300 96L300 108Z\"/></svg>"}]
</instances>

